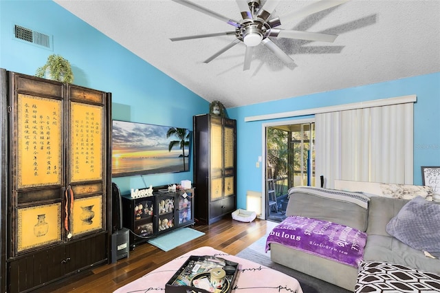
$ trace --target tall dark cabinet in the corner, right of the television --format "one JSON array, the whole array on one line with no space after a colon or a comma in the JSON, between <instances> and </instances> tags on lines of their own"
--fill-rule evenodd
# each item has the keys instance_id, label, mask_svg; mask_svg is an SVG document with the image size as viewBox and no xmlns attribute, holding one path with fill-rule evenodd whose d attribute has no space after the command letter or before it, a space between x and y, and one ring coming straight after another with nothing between
<instances>
[{"instance_id":1,"label":"tall dark cabinet in the corner, right of the television","mask_svg":"<svg viewBox=\"0 0 440 293\"><path fill-rule=\"evenodd\" d=\"M195 218L211 224L236 209L236 121L194 116Z\"/></svg>"}]
</instances>

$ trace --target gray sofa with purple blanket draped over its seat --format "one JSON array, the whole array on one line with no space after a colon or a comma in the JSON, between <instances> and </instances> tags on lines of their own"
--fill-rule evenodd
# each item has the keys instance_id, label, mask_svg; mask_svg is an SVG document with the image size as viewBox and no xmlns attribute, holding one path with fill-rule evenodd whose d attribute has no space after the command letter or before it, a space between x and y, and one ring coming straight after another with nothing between
<instances>
[{"instance_id":1,"label":"gray sofa with purple blanket draped over its seat","mask_svg":"<svg viewBox=\"0 0 440 293\"><path fill-rule=\"evenodd\" d=\"M409 202L407 199L364 195L361 199L366 200L368 206L362 207L340 198L327 197L322 193L317 195L316 190L329 191L329 194L340 192L325 188L291 188L286 215L333 221L366 232L368 236L364 248L364 261L397 263L440 274L439 259L426 257L423 252L407 246L386 232L386 225ZM355 290L358 268L288 248L279 243L270 244L270 253L272 261L276 263L352 292Z\"/></svg>"}]
</instances>

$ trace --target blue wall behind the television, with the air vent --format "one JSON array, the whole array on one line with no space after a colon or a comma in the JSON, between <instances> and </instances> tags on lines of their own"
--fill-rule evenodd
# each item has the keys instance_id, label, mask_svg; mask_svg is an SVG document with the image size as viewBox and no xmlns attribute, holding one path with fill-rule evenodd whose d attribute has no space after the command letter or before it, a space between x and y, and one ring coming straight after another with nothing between
<instances>
[{"instance_id":1,"label":"blue wall behind the television, with the air vent","mask_svg":"<svg viewBox=\"0 0 440 293\"><path fill-rule=\"evenodd\" d=\"M192 129L192 116L209 111L209 102L52 1L1 0L0 19L1 68L34 75L47 56L61 54L72 64L74 84L111 92L115 120ZM14 24L52 35L53 51L14 40ZM192 181L192 167L144 180L148 186ZM140 176L113 181L122 193L144 187Z\"/></svg>"}]
</instances>

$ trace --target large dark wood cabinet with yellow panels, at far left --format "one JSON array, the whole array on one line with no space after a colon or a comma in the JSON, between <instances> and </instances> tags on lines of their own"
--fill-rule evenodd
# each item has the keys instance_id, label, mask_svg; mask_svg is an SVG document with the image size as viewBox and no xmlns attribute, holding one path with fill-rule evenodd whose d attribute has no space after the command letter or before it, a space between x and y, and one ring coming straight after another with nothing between
<instances>
[{"instance_id":1,"label":"large dark wood cabinet with yellow panels, at far left","mask_svg":"<svg viewBox=\"0 0 440 293\"><path fill-rule=\"evenodd\" d=\"M0 74L5 291L27 292L108 261L111 94Z\"/></svg>"}]
</instances>

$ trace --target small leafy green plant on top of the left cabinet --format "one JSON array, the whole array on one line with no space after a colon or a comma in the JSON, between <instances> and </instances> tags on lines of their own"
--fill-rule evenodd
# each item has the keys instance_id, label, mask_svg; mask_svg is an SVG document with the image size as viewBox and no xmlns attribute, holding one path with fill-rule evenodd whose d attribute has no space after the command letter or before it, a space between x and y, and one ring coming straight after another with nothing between
<instances>
[{"instance_id":1,"label":"small leafy green plant on top of the left cabinet","mask_svg":"<svg viewBox=\"0 0 440 293\"><path fill-rule=\"evenodd\" d=\"M51 54L47 57L46 64L36 69L35 76L63 83L72 83L74 81L74 73L69 61L56 54Z\"/></svg>"}]
</instances>

